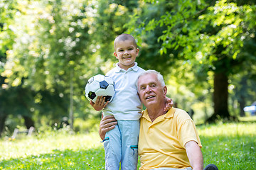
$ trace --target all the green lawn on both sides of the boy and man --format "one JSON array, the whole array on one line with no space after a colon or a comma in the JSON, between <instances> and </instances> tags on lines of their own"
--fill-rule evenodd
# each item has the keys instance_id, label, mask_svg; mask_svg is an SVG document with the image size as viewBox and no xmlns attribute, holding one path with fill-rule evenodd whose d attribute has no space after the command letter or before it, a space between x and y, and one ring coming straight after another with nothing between
<instances>
[{"instance_id":1,"label":"all the green lawn on both sides of the boy and man","mask_svg":"<svg viewBox=\"0 0 256 170\"><path fill-rule=\"evenodd\" d=\"M256 169L256 123L198 126L204 164L219 169ZM0 140L0 169L104 169L104 149L97 132L48 132Z\"/></svg>"}]
</instances>

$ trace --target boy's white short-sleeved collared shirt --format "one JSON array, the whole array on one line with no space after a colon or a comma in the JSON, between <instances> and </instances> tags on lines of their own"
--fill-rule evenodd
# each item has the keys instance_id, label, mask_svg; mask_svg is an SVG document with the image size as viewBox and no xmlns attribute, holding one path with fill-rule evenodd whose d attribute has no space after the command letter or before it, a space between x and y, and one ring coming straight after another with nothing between
<instances>
[{"instance_id":1,"label":"boy's white short-sleeved collared shirt","mask_svg":"<svg viewBox=\"0 0 256 170\"><path fill-rule=\"evenodd\" d=\"M103 109L104 115L114 115L117 120L139 120L142 114L139 113L142 103L137 93L136 80L144 69L138 67L135 62L134 67L124 70L116 64L114 69L107 72L106 76L114 81L115 94L113 100Z\"/></svg>"}]
</instances>

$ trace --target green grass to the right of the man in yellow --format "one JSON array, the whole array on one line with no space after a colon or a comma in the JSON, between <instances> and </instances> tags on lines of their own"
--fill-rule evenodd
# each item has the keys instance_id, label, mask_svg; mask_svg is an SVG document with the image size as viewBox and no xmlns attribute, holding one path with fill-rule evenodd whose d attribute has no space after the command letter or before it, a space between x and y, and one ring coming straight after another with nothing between
<instances>
[{"instance_id":1,"label":"green grass to the right of the man in yellow","mask_svg":"<svg viewBox=\"0 0 256 170\"><path fill-rule=\"evenodd\" d=\"M256 169L256 123L198 127L204 163L219 169Z\"/></svg>"}]
</instances>

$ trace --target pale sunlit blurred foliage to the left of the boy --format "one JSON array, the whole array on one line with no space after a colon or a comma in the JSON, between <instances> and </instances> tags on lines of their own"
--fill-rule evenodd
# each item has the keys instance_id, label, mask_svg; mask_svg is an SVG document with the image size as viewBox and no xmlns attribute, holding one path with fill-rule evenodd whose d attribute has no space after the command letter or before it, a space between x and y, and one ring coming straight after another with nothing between
<instances>
[{"instance_id":1,"label":"pale sunlit blurred foliage to the left of the boy","mask_svg":"<svg viewBox=\"0 0 256 170\"><path fill-rule=\"evenodd\" d=\"M89 108L83 89L87 79L112 67L112 42L124 32L123 16L132 6L136 1L15 1L13 17L6 16L11 22L3 21L15 35L9 47L1 47L6 53L4 91L29 89L31 100L24 101L31 104L24 109L54 121L67 116L72 103L75 117L97 113Z\"/></svg>"}]
</instances>

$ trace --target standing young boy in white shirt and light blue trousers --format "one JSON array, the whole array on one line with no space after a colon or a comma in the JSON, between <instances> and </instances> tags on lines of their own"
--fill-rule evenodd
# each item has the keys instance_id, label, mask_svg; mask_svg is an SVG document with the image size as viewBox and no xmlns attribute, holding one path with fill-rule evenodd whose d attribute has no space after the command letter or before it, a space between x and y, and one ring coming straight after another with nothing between
<instances>
[{"instance_id":1,"label":"standing young boy in white shirt and light blue trousers","mask_svg":"<svg viewBox=\"0 0 256 170\"><path fill-rule=\"evenodd\" d=\"M139 48L132 35L122 34L114 40L114 56L119 61L107 76L114 81L115 95L111 103L105 103L102 96L90 104L96 111L103 109L103 115L114 115L117 125L105 135L105 169L137 169L139 118L141 101L137 94L136 80L144 69L135 62ZM168 107L168 106L167 106Z\"/></svg>"}]
</instances>

